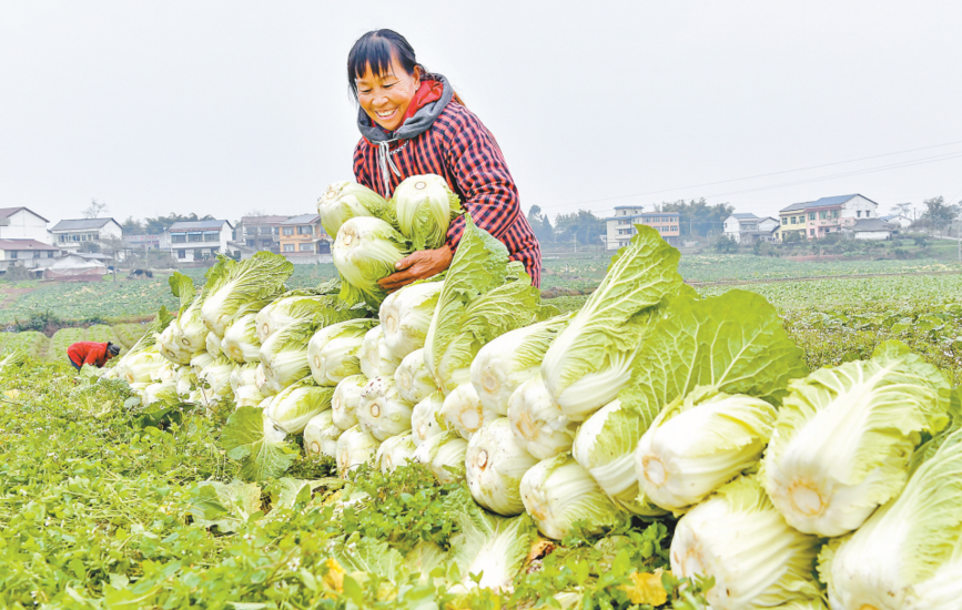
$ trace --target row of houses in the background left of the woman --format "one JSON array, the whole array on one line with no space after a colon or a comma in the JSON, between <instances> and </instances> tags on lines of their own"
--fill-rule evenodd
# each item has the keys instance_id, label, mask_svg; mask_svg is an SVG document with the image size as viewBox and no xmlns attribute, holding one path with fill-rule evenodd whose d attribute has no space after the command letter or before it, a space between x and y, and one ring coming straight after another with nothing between
<instances>
[{"instance_id":1,"label":"row of houses in the background left of the woman","mask_svg":"<svg viewBox=\"0 0 962 610\"><path fill-rule=\"evenodd\" d=\"M0 209L0 271L10 265L50 267L60 258L122 260L130 252L163 251L180 263L217 254L250 257L256 252L282 254L294 262L315 262L331 252L331 238L317 214L243 216L174 223L158 235L124 235L114 218L50 221L28 207ZM74 261L77 262L77 261Z\"/></svg>"}]
</instances>

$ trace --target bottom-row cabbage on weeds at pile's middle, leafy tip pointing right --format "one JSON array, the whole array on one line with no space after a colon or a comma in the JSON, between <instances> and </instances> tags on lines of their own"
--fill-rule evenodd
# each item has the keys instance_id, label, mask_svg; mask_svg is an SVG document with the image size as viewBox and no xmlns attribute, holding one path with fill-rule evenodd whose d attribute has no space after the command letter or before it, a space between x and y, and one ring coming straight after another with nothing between
<instances>
[{"instance_id":1,"label":"bottom-row cabbage on weeds at pile's middle, leafy tip pointing right","mask_svg":"<svg viewBox=\"0 0 962 610\"><path fill-rule=\"evenodd\" d=\"M567 454L531 467L521 477L520 491L538 530L555 540L567 536L577 521L583 521L586 533L600 533L626 515Z\"/></svg>"}]
</instances>

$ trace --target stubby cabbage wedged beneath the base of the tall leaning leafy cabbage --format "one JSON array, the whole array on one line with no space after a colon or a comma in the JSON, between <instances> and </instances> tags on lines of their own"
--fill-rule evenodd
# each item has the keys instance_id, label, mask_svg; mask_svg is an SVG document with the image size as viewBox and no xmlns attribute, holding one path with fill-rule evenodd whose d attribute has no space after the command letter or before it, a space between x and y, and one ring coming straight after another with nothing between
<instances>
[{"instance_id":1,"label":"stubby cabbage wedged beneath the base of the tall leaning leafy cabbage","mask_svg":"<svg viewBox=\"0 0 962 610\"><path fill-rule=\"evenodd\" d=\"M518 444L538 459L571 449L578 424L561 413L537 375L523 383L508 398L508 421Z\"/></svg>"}]
</instances>

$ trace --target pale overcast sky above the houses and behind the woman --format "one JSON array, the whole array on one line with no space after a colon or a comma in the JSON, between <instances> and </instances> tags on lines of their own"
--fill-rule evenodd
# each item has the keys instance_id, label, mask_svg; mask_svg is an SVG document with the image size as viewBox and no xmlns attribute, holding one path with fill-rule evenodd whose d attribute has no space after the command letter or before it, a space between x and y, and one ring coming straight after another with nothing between
<instances>
[{"instance_id":1,"label":"pale overcast sky above the houses and behind the woman","mask_svg":"<svg viewBox=\"0 0 962 610\"><path fill-rule=\"evenodd\" d=\"M375 28L454 83L525 211L954 203L960 23L948 0L0 0L0 207L312 212L353 177L345 64Z\"/></svg>"}]
</instances>

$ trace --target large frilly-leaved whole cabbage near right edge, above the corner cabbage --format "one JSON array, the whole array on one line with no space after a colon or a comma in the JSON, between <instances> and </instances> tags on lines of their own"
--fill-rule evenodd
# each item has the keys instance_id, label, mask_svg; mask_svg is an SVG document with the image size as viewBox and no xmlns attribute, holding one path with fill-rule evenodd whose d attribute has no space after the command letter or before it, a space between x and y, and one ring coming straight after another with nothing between
<instances>
[{"instance_id":1,"label":"large frilly-leaved whole cabbage near right edge, above the corner cabbage","mask_svg":"<svg viewBox=\"0 0 962 610\"><path fill-rule=\"evenodd\" d=\"M949 420L944 375L898 342L789 387L762 481L789 525L806 533L861 526L905 485L921 435Z\"/></svg>"}]
</instances>

